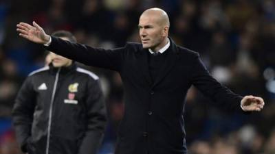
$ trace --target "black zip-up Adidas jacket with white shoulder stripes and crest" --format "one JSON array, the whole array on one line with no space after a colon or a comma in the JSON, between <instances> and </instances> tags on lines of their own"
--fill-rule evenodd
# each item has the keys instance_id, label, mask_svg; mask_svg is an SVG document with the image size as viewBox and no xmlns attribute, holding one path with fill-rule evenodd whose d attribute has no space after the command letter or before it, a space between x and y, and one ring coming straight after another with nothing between
<instances>
[{"instance_id":1,"label":"black zip-up Adidas jacket with white shoulder stripes and crest","mask_svg":"<svg viewBox=\"0 0 275 154\"><path fill-rule=\"evenodd\" d=\"M96 154L107 118L98 77L76 64L31 73L12 116L29 154Z\"/></svg>"}]
</instances>

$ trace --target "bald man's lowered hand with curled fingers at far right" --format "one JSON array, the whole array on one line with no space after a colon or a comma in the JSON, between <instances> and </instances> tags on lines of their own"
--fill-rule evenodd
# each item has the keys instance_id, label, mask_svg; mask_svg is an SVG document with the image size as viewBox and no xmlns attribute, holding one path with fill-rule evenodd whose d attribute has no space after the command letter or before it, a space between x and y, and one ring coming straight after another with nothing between
<instances>
[{"instance_id":1,"label":"bald man's lowered hand with curled fingers at far right","mask_svg":"<svg viewBox=\"0 0 275 154\"><path fill-rule=\"evenodd\" d=\"M245 96L241 100L241 107L244 111L261 111L265 102L261 97L254 97L252 95Z\"/></svg>"}]
</instances>

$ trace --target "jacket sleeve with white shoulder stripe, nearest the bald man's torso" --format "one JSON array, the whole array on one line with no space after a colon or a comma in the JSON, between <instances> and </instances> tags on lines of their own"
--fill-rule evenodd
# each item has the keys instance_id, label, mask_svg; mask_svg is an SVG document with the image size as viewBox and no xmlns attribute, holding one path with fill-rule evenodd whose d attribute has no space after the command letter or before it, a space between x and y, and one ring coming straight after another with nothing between
<instances>
[{"instance_id":1,"label":"jacket sleeve with white shoulder stripe, nearest the bald man's torso","mask_svg":"<svg viewBox=\"0 0 275 154\"><path fill-rule=\"evenodd\" d=\"M107 123L106 107L99 81L91 81L87 90L87 130L79 154L96 154Z\"/></svg>"}]
</instances>

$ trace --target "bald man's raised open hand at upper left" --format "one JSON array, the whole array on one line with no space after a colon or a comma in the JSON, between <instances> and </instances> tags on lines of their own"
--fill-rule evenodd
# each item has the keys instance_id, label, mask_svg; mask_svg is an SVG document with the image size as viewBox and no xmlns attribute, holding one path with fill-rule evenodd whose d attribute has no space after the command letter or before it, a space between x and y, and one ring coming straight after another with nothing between
<instances>
[{"instance_id":1,"label":"bald man's raised open hand at upper left","mask_svg":"<svg viewBox=\"0 0 275 154\"><path fill-rule=\"evenodd\" d=\"M46 44L50 41L50 36L45 34L43 28L41 28L34 21L32 22L32 25L22 22L17 24L17 31L19 31L19 36L22 36L32 42Z\"/></svg>"}]
</instances>

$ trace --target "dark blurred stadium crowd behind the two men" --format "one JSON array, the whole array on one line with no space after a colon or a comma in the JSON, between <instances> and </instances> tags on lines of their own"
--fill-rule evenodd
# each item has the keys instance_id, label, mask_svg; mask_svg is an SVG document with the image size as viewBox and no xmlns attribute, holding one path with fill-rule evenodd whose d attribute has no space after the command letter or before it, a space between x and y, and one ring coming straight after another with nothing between
<instances>
[{"instance_id":1,"label":"dark blurred stadium crowd behind the two men","mask_svg":"<svg viewBox=\"0 0 275 154\"><path fill-rule=\"evenodd\" d=\"M105 49L139 41L137 23L146 8L170 17L170 37L198 51L216 79L239 94L265 99L263 112L232 114L191 88L186 98L191 154L275 153L275 1L273 0L1 0L0 154L19 154L11 123L23 79L44 65L43 47L19 38L20 21L36 21L48 34L72 31L78 42ZM101 77L109 125L100 154L111 154L122 118L120 76L90 68Z\"/></svg>"}]
</instances>

